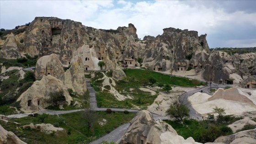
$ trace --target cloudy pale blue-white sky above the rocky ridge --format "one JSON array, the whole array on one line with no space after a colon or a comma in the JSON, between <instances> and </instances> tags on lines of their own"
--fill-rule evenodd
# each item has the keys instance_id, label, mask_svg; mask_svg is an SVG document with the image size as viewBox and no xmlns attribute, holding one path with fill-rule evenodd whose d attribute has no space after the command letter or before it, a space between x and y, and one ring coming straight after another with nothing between
<instances>
[{"instance_id":1,"label":"cloudy pale blue-white sky above the rocky ridge","mask_svg":"<svg viewBox=\"0 0 256 144\"><path fill-rule=\"evenodd\" d=\"M256 0L0 0L0 28L13 29L36 16L101 29L133 23L141 39L174 27L207 33L210 48L256 47Z\"/></svg>"}]
</instances>

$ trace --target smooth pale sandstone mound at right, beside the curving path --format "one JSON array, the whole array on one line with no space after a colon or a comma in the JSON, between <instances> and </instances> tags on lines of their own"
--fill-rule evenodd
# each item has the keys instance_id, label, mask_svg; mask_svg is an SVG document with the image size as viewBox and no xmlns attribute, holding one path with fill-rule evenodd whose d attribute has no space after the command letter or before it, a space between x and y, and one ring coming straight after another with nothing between
<instances>
[{"instance_id":1,"label":"smooth pale sandstone mound at right, beside the curving path","mask_svg":"<svg viewBox=\"0 0 256 144\"><path fill-rule=\"evenodd\" d=\"M226 95L224 95L225 92ZM213 108L221 107L225 109L227 115L241 115L243 112L255 111L256 105L254 96L249 96L237 88L228 90L219 89L213 96L197 92L188 97L192 107L201 115L206 116L207 113L213 113Z\"/></svg>"}]
</instances>

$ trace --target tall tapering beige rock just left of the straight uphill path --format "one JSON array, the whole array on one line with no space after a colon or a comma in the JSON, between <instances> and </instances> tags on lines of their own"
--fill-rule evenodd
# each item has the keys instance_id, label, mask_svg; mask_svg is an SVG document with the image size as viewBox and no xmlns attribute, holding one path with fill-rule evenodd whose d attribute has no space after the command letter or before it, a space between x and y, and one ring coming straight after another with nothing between
<instances>
[{"instance_id":1,"label":"tall tapering beige rock just left of the straight uphill path","mask_svg":"<svg viewBox=\"0 0 256 144\"><path fill-rule=\"evenodd\" d=\"M86 91L85 72L81 58L66 70L64 85L67 89L72 89L80 95Z\"/></svg>"}]
</instances>

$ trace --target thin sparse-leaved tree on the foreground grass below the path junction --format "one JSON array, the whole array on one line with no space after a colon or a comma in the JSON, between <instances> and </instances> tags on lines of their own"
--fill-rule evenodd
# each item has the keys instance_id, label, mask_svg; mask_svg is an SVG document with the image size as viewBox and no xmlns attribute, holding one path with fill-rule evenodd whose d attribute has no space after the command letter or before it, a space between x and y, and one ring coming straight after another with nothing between
<instances>
[{"instance_id":1,"label":"thin sparse-leaved tree on the foreground grass below the path junction","mask_svg":"<svg viewBox=\"0 0 256 144\"><path fill-rule=\"evenodd\" d=\"M82 118L84 120L84 126L87 128L88 132L91 129L92 133L94 133L93 125L97 120L96 112L94 112L93 109L91 109L91 107L86 107L82 111Z\"/></svg>"}]
</instances>

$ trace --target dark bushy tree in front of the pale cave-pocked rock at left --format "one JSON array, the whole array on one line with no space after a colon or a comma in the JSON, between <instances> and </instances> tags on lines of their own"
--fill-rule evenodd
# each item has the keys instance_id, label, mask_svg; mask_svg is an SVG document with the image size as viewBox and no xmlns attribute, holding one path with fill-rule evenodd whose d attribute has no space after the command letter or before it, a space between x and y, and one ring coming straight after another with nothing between
<instances>
[{"instance_id":1,"label":"dark bushy tree in front of the pale cave-pocked rock at left","mask_svg":"<svg viewBox=\"0 0 256 144\"><path fill-rule=\"evenodd\" d=\"M48 94L48 99L46 100L49 103L53 103L54 106L58 106L61 102L66 101L64 96L64 91L53 91Z\"/></svg>"}]
</instances>

